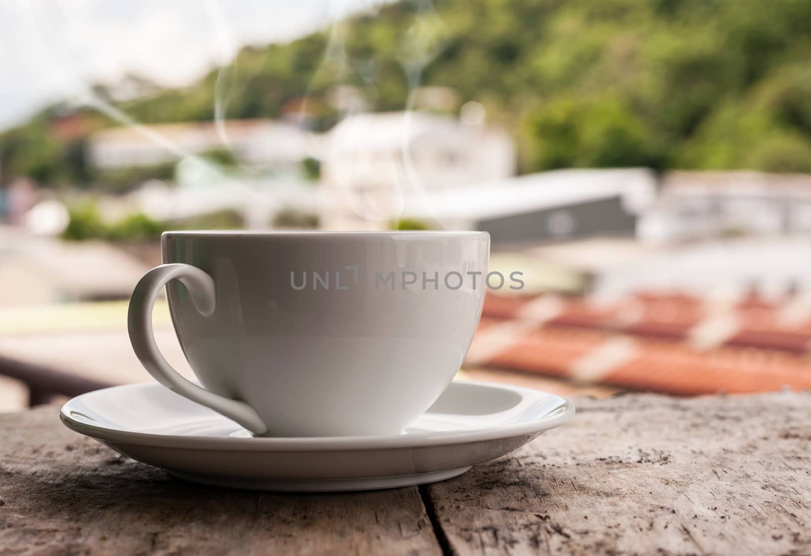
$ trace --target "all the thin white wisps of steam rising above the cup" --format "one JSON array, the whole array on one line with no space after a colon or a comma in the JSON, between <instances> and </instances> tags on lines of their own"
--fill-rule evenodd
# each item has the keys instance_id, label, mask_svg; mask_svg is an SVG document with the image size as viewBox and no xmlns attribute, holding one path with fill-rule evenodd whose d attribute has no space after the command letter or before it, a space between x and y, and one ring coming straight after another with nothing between
<instances>
[{"instance_id":1,"label":"all the thin white wisps of steam rising above the cup","mask_svg":"<svg viewBox=\"0 0 811 556\"><path fill-rule=\"evenodd\" d=\"M390 203L387 206L375 206L369 203L369 199L363 199L363 195L358 195L351 187L353 184L337 183L337 190L344 197L346 204L356 215L365 220L385 221L397 219L402 215L405 208L405 195L418 199L427 208L427 203L423 199L423 182L416 169L413 160L413 153L410 150L410 132L413 125L413 112L417 99L418 88L423 80L423 74L427 66L444 49L447 43L448 29L437 13L431 0L402 0L414 5L413 21L398 44L397 60L401 65L405 75L408 88L405 99L403 122L400 126L400 158L405 169L405 179L398 181L393 190L389 191ZM319 79L324 79L325 72L329 72L328 81L333 85L350 84L350 78L355 82L362 83L364 93L373 101L376 95L374 58L352 58L347 52L346 36L350 30L350 24L344 19L351 13L363 13L375 15L380 6L388 3L388 0L361 0L352 2L351 0L330 0L326 6L326 18L330 23L328 30L328 43L324 49L324 58L318 67L315 75L311 79L305 99L311 96L312 88ZM208 160L195 155L195 153L185 151L181 145L175 143L165 135L157 133L152 127L144 126L141 122L132 118L129 114L118 109L108 99L102 98L97 92L88 87L84 79L88 66L94 68L96 75L104 75L101 70L102 64L94 53L95 45L81 44L77 41L77 33L71 28L71 10L67 9L70 4L64 0L40 0L30 2L29 0L17 0L16 11L21 15L20 19L27 28L25 34L30 37L37 37L38 41L32 41L32 46L41 49L40 55L45 62L42 66L50 66L50 78L58 79L63 90L75 91L75 103L95 109L105 114L108 118L123 126L129 126L133 130L147 137L150 141L164 148L178 158L178 161L189 161L205 169L208 175L215 175L221 178L224 186L240 188L254 199L261 202L268 202L264 195L239 179L230 179L221 173L215 165ZM226 22L222 6L218 0L204 0L202 2L204 14L208 22L212 25L213 38L217 45L217 51L222 59L233 57L236 52L230 28ZM79 33L80 36L80 33ZM229 93L234 87L234 62L223 63L217 70L217 79L214 90L213 105L213 125L217 133L218 140L225 148L232 149L230 138L228 137L227 122ZM306 103L306 101L305 101ZM302 109L305 109L303 104ZM350 105L345 112L340 113L342 119L349 118L360 111L357 105ZM393 153L391 153L393 154ZM392 168L397 165L394 156L390 157L389 164ZM393 172L393 175L400 177L400 173Z\"/></svg>"}]
</instances>

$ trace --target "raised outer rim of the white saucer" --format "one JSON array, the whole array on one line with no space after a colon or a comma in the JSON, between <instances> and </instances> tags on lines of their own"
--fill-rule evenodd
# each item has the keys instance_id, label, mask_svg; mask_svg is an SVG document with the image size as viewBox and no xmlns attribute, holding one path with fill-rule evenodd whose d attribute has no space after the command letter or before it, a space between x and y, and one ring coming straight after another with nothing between
<instances>
[{"instance_id":1,"label":"raised outer rim of the white saucer","mask_svg":"<svg viewBox=\"0 0 811 556\"><path fill-rule=\"evenodd\" d=\"M457 443L487 442L499 438L513 438L528 434L540 434L546 430L569 422L575 414L571 401L563 396L534 388L517 387L510 384L488 383L474 380L454 380L458 384L475 384L482 387L499 388L517 392L522 398L532 396L553 396L560 400L559 408L563 411L537 417L529 421L487 426L480 429L452 430L440 432L381 435L381 436L315 436L315 437L215 437L185 436L182 434L155 434L137 430L113 429L106 426L91 425L71 417L70 412L84 396L98 396L100 392L114 389L162 388L158 383L122 384L114 387L89 391L68 400L59 409L59 417L68 429L97 440L111 443L137 444L151 447L183 447L187 449L217 450L225 448L232 451L346 451L346 450L380 450L381 448L414 448L431 447ZM227 418L227 417L226 417ZM238 426L235 424L235 426ZM182 443L182 446L178 443Z\"/></svg>"}]
</instances>

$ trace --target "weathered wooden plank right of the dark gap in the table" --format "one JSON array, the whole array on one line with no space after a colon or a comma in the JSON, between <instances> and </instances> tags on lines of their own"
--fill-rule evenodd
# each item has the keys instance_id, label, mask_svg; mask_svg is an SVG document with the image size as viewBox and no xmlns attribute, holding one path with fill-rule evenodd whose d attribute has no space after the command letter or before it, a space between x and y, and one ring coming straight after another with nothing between
<instances>
[{"instance_id":1,"label":"weathered wooden plank right of the dark gap in the table","mask_svg":"<svg viewBox=\"0 0 811 556\"><path fill-rule=\"evenodd\" d=\"M427 486L457 554L811 554L811 395L576 400L575 420Z\"/></svg>"}]
</instances>

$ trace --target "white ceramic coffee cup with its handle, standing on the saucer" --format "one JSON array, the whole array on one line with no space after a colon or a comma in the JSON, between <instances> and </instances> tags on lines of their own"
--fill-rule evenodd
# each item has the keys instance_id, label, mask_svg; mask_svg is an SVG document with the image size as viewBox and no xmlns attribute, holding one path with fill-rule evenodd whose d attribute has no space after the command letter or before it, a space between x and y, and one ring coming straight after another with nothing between
<instances>
[{"instance_id":1,"label":"white ceramic coffee cup with its handle, standing on the saucer","mask_svg":"<svg viewBox=\"0 0 811 556\"><path fill-rule=\"evenodd\" d=\"M483 232L166 232L161 244L165 264L130 302L136 355L257 435L399 434L453 379L487 289ZM155 344L164 286L202 387Z\"/></svg>"}]
</instances>

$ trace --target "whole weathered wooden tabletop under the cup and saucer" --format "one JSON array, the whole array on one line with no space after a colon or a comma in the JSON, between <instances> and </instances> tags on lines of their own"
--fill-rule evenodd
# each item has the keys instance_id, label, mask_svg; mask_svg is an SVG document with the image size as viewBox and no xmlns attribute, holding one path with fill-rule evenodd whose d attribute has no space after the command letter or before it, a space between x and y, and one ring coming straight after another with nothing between
<instances>
[{"instance_id":1,"label":"whole weathered wooden tabletop under the cup and saucer","mask_svg":"<svg viewBox=\"0 0 811 556\"><path fill-rule=\"evenodd\" d=\"M576 398L569 425L441 483L208 488L0 416L0 554L811 554L811 395Z\"/></svg>"}]
</instances>

